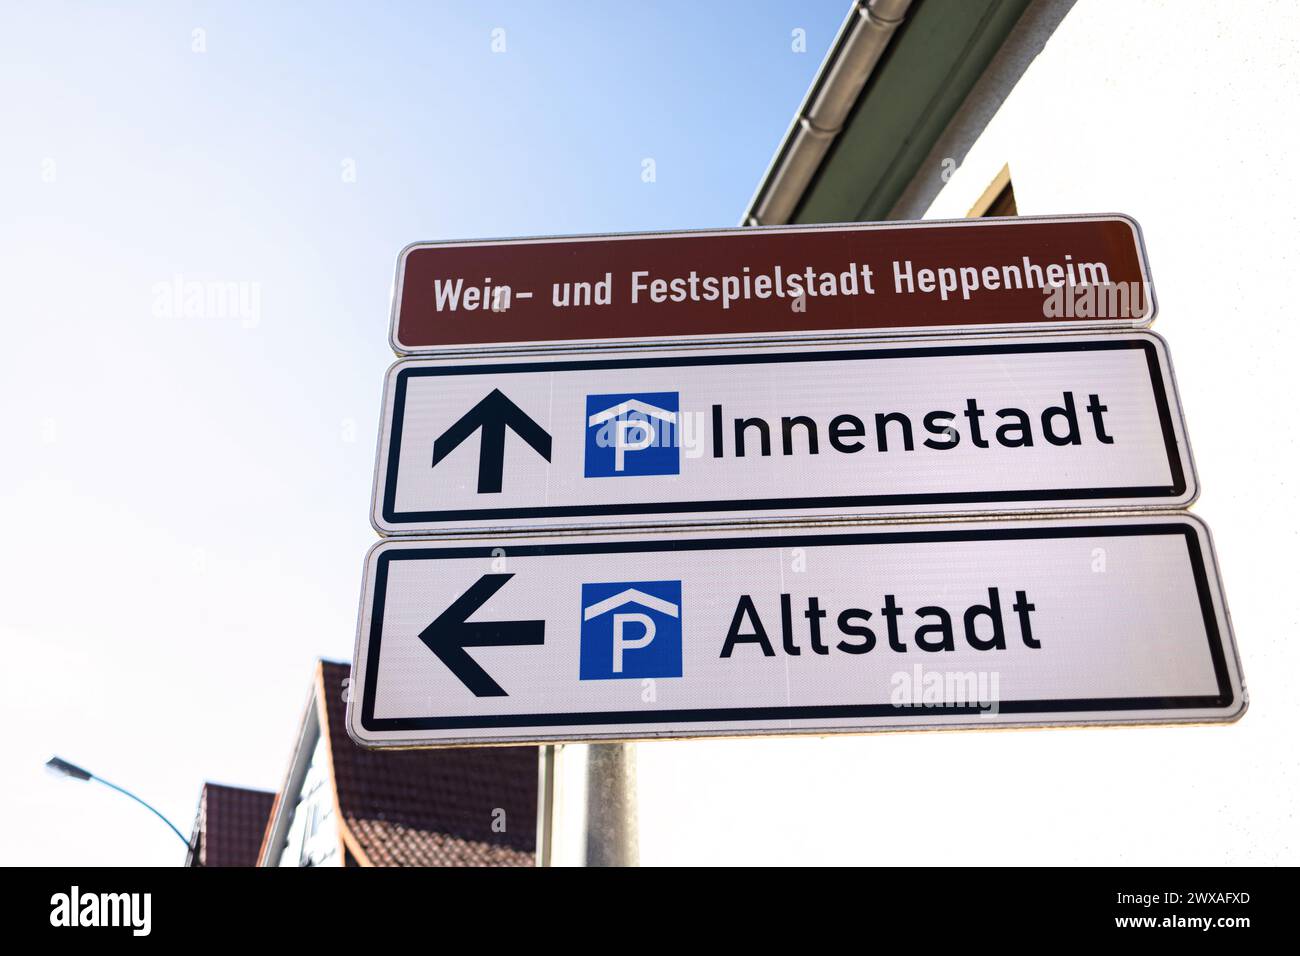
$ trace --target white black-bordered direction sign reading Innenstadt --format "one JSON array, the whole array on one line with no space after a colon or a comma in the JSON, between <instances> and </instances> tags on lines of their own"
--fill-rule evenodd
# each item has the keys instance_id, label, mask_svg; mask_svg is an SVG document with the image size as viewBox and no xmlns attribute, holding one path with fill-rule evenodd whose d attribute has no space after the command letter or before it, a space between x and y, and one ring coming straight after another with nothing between
<instances>
[{"instance_id":1,"label":"white black-bordered direction sign reading Innenstadt","mask_svg":"<svg viewBox=\"0 0 1300 956\"><path fill-rule=\"evenodd\" d=\"M1179 507L1165 343L1093 337L408 360L384 533Z\"/></svg>"}]
</instances>

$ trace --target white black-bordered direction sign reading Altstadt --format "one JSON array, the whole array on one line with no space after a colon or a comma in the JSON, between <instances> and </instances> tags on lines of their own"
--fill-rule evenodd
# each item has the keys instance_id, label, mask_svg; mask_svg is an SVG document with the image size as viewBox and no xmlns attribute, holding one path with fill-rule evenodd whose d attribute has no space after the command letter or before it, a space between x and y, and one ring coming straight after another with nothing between
<instances>
[{"instance_id":1,"label":"white black-bordered direction sign reading Altstadt","mask_svg":"<svg viewBox=\"0 0 1300 956\"><path fill-rule=\"evenodd\" d=\"M1143 515L390 540L370 747L1232 721L1208 529Z\"/></svg>"}]
</instances>

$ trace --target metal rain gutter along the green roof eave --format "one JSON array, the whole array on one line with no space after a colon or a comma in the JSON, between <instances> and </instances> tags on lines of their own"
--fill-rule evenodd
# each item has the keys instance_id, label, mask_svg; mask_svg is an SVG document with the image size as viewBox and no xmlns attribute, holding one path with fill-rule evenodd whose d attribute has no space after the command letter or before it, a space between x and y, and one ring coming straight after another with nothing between
<instances>
[{"instance_id":1,"label":"metal rain gutter along the green roof eave","mask_svg":"<svg viewBox=\"0 0 1300 956\"><path fill-rule=\"evenodd\" d=\"M741 225L790 221L909 7L911 0L858 0L853 5L749 200Z\"/></svg>"}]
</instances>

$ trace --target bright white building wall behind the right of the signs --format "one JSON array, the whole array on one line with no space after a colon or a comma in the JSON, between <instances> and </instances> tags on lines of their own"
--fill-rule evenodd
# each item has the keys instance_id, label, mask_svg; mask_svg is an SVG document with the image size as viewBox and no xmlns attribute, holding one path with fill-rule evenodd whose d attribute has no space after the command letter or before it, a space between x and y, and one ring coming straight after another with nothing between
<instances>
[{"instance_id":1,"label":"bright white building wall behind the right of the signs","mask_svg":"<svg viewBox=\"0 0 1300 956\"><path fill-rule=\"evenodd\" d=\"M641 744L645 864L1295 858L1297 47L1288 3L1035 4L896 211L965 216L1009 164L1022 213L1141 222L1245 717Z\"/></svg>"}]
</instances>

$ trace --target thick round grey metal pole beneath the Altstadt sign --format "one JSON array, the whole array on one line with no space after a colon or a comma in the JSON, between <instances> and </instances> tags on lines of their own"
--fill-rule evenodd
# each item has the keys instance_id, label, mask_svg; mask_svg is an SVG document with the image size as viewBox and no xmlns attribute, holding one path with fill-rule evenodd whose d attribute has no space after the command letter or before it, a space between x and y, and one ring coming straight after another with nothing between
<instances>
[{"instance_id":1,"label":"thick round grey metal pole beneath the Altstadt sign","mask_svg":"<svg viewBox=\"0 0 1300 956\"><path fill-rule=\"evenodd\" d=\"M633 744L592 744L586 754L588 866L637 866L637 753Z\"/></svg>"}]
</instances>

